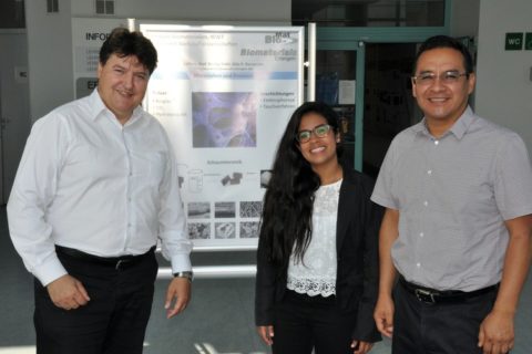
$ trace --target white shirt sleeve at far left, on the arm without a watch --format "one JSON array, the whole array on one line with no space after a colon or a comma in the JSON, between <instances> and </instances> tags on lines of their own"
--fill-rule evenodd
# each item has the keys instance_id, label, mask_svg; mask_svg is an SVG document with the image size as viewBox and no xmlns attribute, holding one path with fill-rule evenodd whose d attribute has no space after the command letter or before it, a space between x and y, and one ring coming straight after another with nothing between
<instances>
[{"instance_id":1,"label":"white shirt sleeve at far left, on the arm without a watch","mask_svg":"<svg viewBox=\"0 0 532 354\"><path fill-rule=\"evenodd\" d=\"M65 129L53 113L35 122L8 201L9 233L25 268L45 287L66 274L55 254L47 208L53 202Z\"/></svg>"}]
</instances>

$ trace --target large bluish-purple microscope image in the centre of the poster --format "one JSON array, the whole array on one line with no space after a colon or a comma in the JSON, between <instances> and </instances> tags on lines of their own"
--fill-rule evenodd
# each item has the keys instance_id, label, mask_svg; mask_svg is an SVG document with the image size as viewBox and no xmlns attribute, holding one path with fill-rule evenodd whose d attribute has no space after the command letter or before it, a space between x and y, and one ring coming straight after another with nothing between
<instances>
[{"instance_id":1,"label":"large bluish-purple microscope image in the centre of the poster","mask_svg":"<svg viewBox=\"0 0 532 354\"><path fill-rule=\"evenodd\" d=\"M252 92L193 92L193 147L256 147L257 98Z\"/></svg>"}]
</instances>

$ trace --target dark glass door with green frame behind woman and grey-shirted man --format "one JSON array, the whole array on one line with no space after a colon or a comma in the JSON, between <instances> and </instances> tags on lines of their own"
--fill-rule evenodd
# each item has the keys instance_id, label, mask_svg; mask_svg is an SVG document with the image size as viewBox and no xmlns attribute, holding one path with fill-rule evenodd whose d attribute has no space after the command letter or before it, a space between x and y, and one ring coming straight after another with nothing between
<instances>
[{"instance_id":1,"label":"dark glass door with green frame behind woman and grey-shirted man","mask_svg":"<svg viewBox=\"0 0 532 354\"><path fill-rule=\"evenodd\" d=\"M420 118L410 87L416 48L447 32L437 27L317 27L316 100L346 119L345 155L355 169L376 177L391 138Z\"/></svg>"}]
</instances>

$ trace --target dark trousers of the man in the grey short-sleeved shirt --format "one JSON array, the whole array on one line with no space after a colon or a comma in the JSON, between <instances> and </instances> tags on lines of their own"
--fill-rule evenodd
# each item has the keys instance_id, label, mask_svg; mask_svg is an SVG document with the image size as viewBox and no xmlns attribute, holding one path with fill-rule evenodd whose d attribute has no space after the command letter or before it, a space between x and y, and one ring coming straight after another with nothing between
<instances>
[{"instance_id":1,"label":"dark trousers of the man in the grey short-sleeved shirt","mask_svg":"<svg viewBox=\"0 0 532 354\"><path fill-rule=\"evenodd\" d=\"M480 324L497 290L453 303L424 303L399 282L393 290L393 354L481 354Z\"/></svg>"}]
</instances>

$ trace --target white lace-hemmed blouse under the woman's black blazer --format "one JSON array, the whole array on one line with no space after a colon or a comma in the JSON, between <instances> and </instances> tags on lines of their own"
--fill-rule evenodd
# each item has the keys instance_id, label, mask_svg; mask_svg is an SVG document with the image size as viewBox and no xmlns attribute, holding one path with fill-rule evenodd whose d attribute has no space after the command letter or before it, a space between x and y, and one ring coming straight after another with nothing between
<instances>
[{"instance_id":1,"label":"white lace-hemmed blouse under the woman's black blazer","mask_svg":"<svg viewBox=\"0 0 532 354\"><path fill-rule=\"evenodd\" d=\"M288 263L286 287L310 296L336 294L336 221L341 179L320 186L315 194L313 237L303 258Z\"/></svg>"}]
</instances>

